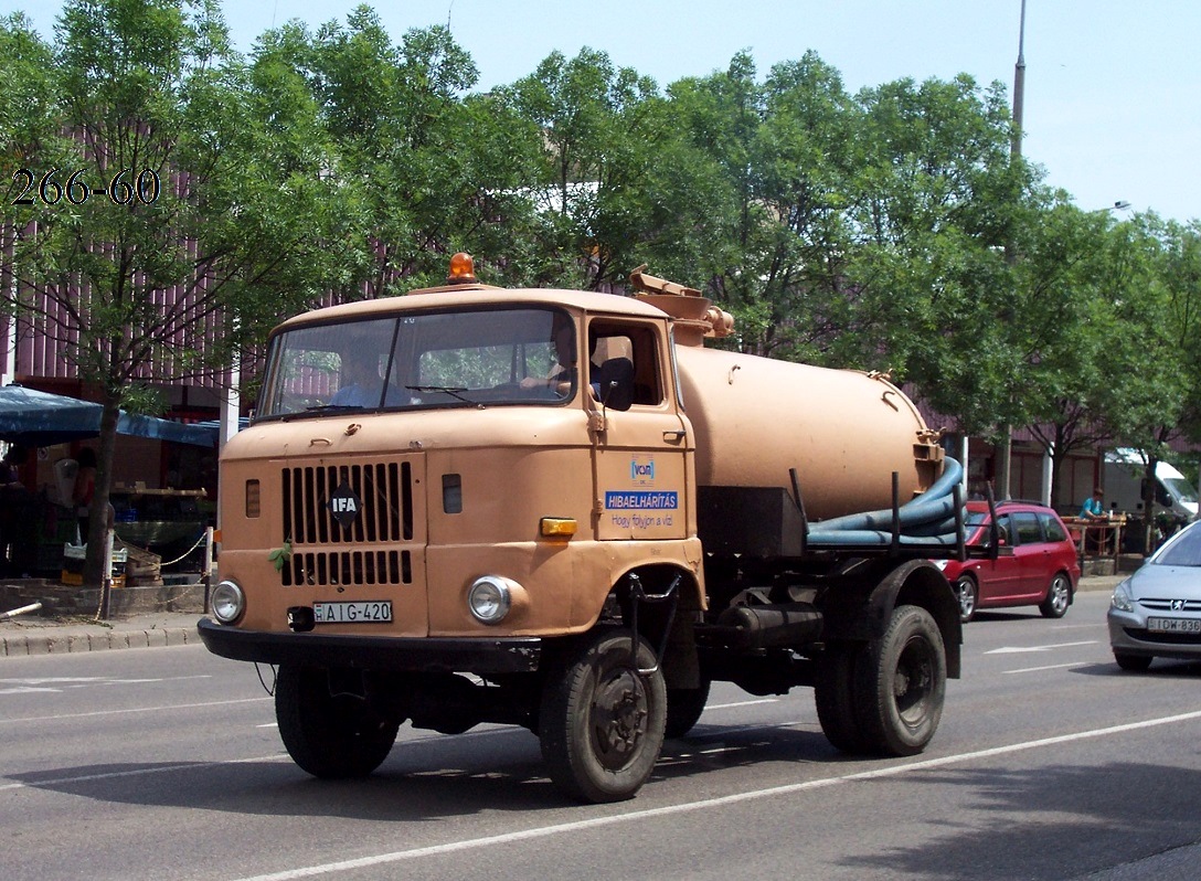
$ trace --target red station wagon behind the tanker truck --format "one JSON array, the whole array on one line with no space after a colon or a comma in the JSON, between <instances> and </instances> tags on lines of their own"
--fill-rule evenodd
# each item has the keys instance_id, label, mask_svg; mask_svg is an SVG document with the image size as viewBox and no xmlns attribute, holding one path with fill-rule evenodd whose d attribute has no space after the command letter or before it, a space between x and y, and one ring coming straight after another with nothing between
<instances>
[{"instance_id":1,"label":"red station wagon behind the tanker truck","mask_svg":"<svg viewBox=\"0 0 1201 881\"><path fill-rule=\"evenodd\" d=\"M1038 502L996 504L999 549L996 560L936 560L960 597L960 618L978 609L1038 606L1046 618L1063 618L1076 594L1080 560L1063 520ZM968 544L987 544L988 505L967 504Z\"/></svg>"}]
</instances>

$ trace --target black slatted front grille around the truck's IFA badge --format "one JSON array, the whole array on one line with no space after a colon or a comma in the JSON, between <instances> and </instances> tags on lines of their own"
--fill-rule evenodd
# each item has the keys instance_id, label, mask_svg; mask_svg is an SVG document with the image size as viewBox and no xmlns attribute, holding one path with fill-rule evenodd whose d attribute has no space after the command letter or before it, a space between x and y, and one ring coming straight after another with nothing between
<instances>
[{"instance_id":1,"label":"black slatted front grille around the truck's IFA badge","mask_svg":"<svg viewBox=\"0 0 1201 881\"><path fill-rule=\"evenodd\" d=\"M413 469L406 460L285 468L283 538L292 554L280 572L292 584L410 584L413 541ZM353 493L357 513L339 523L330 499ZM354 544L353 550L322 549ZM365 547L364 547L365 546Z\"/></svg>"}]
</instances>

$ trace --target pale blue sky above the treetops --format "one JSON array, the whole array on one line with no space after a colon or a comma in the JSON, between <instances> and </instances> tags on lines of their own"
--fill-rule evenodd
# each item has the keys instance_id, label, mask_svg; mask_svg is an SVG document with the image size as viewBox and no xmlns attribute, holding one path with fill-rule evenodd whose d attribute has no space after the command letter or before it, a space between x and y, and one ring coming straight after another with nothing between
<instances>
[{"instance_id":1,"label":"pale blue sky above the treetops","mask_svg":"<svg viewBox=\"0 0 1201 881\"><path fill-rule=\"evenodd\" d=\"M235 47L271 26L337 19L345 0L225 0ZM1023 38L1024 156L1085 210L1128 202L1201 218L1201 2L1196 0L402 0L374 2L399 43L449 24L479 69L477 90L512 83L554 50L608 53L661 88L728 67L760 77L812 49L855 91L901 78L970 75L1012 96ZM61 0L0 0L53 37ZM1122 216L1122 215L1118 215Z\"/></svg>"}]
</instances>

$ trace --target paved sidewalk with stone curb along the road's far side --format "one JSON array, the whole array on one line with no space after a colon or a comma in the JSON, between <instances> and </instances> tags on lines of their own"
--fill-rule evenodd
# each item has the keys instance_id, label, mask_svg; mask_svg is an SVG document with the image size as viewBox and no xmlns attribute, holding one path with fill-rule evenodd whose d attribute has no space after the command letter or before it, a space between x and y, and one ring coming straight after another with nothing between
<instances>
[{"instance_id":1,"label":"paved sidewalk with stone curb along the road's far side","mask_svg":"<svg viewBox=\"0 0 1201 881\"><path fill-rule=\"evenodd\" d=\"M1125 576L1087 576L1077 591L1113 590ZM151 612L107 621L86 617L42 618L37 613L0 619L0 659L68 651L196 645L199 612Z\"/></svg>"}]
</instances>

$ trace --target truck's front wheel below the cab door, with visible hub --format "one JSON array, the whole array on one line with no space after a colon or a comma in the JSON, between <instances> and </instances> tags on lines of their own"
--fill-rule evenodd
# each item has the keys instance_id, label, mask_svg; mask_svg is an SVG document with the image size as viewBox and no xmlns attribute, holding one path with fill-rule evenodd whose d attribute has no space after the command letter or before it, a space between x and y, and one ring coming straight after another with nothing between
<instances>
[{"instance_id":1,"label":"truck's front wheel below the cab door, with visible hub","mask_svg":"<svg viewBox=\"0 0 1201 881\"><path fill-rule=\"evenodd\" d=\"M554 669L543 690L538 731L555 784L573 798L633 798L663 746L667 687L641 638L598 631Z\"/></svg>"}]
</instances>

